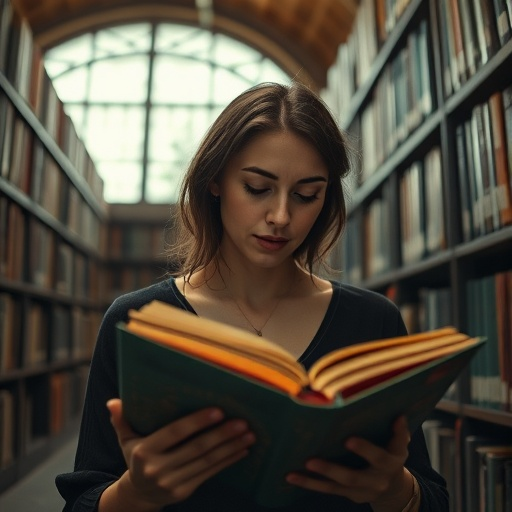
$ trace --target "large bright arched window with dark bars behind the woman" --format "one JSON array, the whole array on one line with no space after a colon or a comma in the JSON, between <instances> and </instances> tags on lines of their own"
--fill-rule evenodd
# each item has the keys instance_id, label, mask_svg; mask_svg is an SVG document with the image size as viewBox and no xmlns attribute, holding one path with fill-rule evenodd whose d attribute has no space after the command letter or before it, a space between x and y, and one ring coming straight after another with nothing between
<instances>
[{"instance_id":1,"label":"large bright arched window with dark bars behind the woman","mask_svg":"<svg viewBox=\"0 0 512 512\"><path fill-rule=\"evenodd\" d=\"M289 77L255 49L172 23L110 27L48 50L45 65L110 203L173 203L194 149L237 94Z\"/></svg>"}]
</instances>

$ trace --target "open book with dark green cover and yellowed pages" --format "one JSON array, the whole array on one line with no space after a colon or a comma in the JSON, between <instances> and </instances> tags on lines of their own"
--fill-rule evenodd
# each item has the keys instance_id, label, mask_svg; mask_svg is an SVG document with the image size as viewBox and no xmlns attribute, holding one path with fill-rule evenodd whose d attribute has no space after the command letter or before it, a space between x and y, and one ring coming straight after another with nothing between
<instances>
[{"instance_id":1,"label":"open book with dark green cover and yellowed pages","mask_svg":"<svg viewBox=\"0 0 512 512\"><path fill-rule=\"evenodd\" d=\"M401 414L414 431L483 341L453 327L375 340L327 354L306 372L279 345L153 301L119 323L123 411L149 434L208 406L245 418L257 443L218 478L263 505L301 491L284 477L312 457L361 467L350 435L384 446Z\"/></svg>"}]
</instances>

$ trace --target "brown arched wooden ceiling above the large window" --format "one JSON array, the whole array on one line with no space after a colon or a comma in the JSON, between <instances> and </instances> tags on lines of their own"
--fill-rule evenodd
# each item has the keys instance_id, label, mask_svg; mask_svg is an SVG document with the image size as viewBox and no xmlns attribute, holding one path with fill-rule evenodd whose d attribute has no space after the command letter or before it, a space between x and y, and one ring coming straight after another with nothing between
<instances>
[{"instance_id":1,"label":"brown arched wooden ceiling above the large window","mask_svg":"<svg viewBox=\"0 0 512 512\"><path fill-rule=\"evenodd\" d=\"M106 25L158 19L206 23L258 48L320 88L358 0L13 0L43 48Z\"/></svg>"}]
</instances>

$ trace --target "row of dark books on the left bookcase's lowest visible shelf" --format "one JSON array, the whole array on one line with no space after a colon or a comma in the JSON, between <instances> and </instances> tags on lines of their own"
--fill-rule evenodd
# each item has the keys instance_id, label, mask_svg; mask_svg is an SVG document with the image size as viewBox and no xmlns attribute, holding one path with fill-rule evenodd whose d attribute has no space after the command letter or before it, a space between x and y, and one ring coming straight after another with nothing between
<instances>
[{"instance_id":1,"label":"row of dark books on the left bookcase's lowest visible shelf","mask_svg":"<svg viewBox=\"0 0 512 512\"><path fill-rule=\"evenodd\" d=\"M29 451L45 438L62 432L78 417L87 376L88 367L81 365L28 379L23 391L0 384L0 469L14 464L19 456L20 438ZM18 426L18 414L26 420L22 430Z\"/></svg>"}]
</instances>

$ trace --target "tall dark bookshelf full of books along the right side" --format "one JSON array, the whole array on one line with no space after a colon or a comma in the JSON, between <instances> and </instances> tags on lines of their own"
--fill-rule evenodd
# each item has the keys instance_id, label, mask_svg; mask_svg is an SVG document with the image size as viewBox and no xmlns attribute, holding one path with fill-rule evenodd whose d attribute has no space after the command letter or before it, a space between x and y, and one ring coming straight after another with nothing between
<instances>
[{"instance_id":1,"label":"tall dark bookshelf full of books along the right side","mask_svg":"<svg viewBox=\"0 0 512 512\"><path fill-rule=\"evenodd\" d=\"M510 2L362 0L323 91L361 155L342 279L389 296L411 331L488 337L425 425L455 512L512 499L493 491L511 452L477 449L512 444L511 20Z\"/></svg>"}]
</instances>

